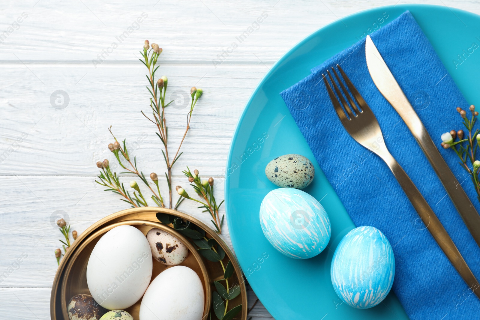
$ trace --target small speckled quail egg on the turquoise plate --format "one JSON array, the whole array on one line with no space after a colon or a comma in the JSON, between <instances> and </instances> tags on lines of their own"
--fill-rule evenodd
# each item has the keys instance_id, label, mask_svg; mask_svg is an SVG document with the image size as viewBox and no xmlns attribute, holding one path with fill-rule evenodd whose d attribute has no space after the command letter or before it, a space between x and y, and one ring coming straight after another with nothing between
<instances>
[{"instance_id":1,"label":"small speckled quail egg on the turquoise plate","mask_svg":"<svg viewBox=\"0 0 480 320\"><path fill-rule=\"evenodd\" d=\"M265 175L278 187L303 189L313 181L315 168L303 155L285 154L268 163Z\"/></svg>"}]
</instances>

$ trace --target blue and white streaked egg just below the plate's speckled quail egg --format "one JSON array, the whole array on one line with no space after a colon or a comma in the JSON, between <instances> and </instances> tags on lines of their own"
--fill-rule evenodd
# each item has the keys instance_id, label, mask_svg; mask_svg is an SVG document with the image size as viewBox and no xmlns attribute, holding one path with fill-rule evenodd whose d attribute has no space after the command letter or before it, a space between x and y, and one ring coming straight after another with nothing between
<instances>
[{"instance_id":1,"label":"blue and white streaked egg just below the plate's speckled quail egg","mask_svg":"<svg viewBox=\"0 0 480 320\"><path fill-rule=\"evenodd\" d=\"M260 205L260 225L272 246L290 258L312 258L330 240L330 219L324 207L298 189L268 192Z\"/></svg>"}]
</instances>

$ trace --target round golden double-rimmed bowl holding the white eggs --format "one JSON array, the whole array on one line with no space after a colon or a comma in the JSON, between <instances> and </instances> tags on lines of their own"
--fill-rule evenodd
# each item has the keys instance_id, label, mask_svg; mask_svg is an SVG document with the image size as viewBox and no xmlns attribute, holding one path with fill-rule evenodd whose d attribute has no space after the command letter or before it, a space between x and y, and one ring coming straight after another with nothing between
<instances>
[{"instance_id":1,"label":"round golden double-rimmed bowl holding the white eggs","mask_svg":"<svg viewBox=\"0 0 480 320\"><path fill-rule=\"evenodd\" d=\"M234 275L229 278L229 282L231 284L237 284L240 286L240 295L229 300L228 306L229 309L231 309L241 304L241 312L233 319L247 319L247 293L242 272L233 253L222 240L222 238L219 237L210 227L188 215L187 213L159 207L142 207L122 210L120 212L108 215L107 217L97 221L95 224L87 228L73 242L72 246L61 260L60 266L53 281L50 296L50 317L52 320L68 320L66 304L68 303L69 299L76 294L89 294L88 287L86 285L86 265L88 263L91 249L93 249L101 235L117 225L134 225L144 234L146 234L146 232L148 232L148 230L150 230L152 227L157 227L159 229L166 230L175 237L178 237L191 252L189 257L182 263L182 265L192 268L199 275L202 283L204 284L204 315L208 315L211 305L211 292L212 289L215 290L213 281L223 279L223 269L221 265L218 262L212 262L203 259L193 247L192 243L182 234L177 232L171 226L171 224L167 225L160 223L156 217L156 213L167 213L172 216L180 217L184 221L190 221L192 224L204 230L207 238L214 238L216 243L222 249L224 249L226 253L224 261L227 261L227 259L231 261L235 270ZM90 250L84 250L85 248ZM168 268L168 266L164 266L155 262L156 261L154 261L152 279L154 279L158 273ZM208 285L206 285L207 283ZM132 314L134 319L138 319L139 307L140 301L132 307L127 308L127 311ZM213 315L213 317L215 316Z\"/></svg>"}]
</instances>

